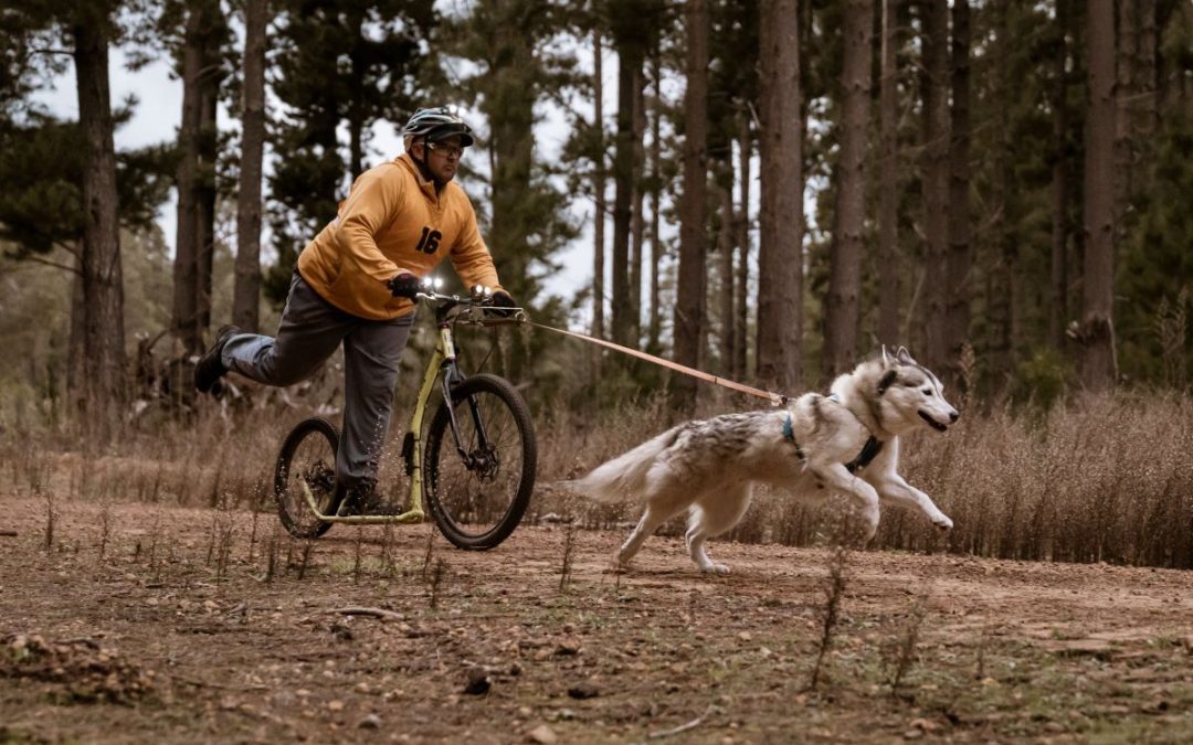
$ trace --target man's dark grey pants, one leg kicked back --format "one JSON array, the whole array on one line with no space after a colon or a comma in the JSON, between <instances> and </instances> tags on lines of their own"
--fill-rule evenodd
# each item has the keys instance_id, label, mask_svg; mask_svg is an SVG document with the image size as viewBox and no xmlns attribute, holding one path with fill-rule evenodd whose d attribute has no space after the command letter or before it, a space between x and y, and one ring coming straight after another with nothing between
<instances>
[{"instance_id":1,"label":"man's dark grey pants, one leg kicked back","mask_svg":"<svg viewBox=\"0 0 1193 745\"><path fill-rule=\"evenodd\" d=\"M351 489L377 477L397 364L414 313L369 321L335 308L295 272L278 335L239 334L223 348L223 364L266 385L293 385L313 375L344 342L344 433L335 454L336 482Z\"/></svg>"}]
</instances>

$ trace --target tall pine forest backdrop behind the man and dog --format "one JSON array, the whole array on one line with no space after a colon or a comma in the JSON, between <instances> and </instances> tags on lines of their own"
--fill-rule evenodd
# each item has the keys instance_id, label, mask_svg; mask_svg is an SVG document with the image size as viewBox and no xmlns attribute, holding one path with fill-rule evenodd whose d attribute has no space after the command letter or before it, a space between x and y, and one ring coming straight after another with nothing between
<instances>
[{"instance_id":1,"label":"tall pine forest backdrop behind the man and dog","mask_svg":"<svg viewBox=\"0 0 1193 745\"><path fill-rule=\"evenodd\" d=\"M155 147L113 145L155 106L112 100L116 48L183 88ZM78 120L35 97L68 68ZM373 125L438 104L478 130L463 185L537 321L783 391L879 343L964 401L1188 384L1187 1L6 0L0 428L194 405L188 355L272 331L297 253L397 155ZM576 242L588 281L545 292ZM532 401L710 395L507 340Z\"/></svg>"}]
</instances>

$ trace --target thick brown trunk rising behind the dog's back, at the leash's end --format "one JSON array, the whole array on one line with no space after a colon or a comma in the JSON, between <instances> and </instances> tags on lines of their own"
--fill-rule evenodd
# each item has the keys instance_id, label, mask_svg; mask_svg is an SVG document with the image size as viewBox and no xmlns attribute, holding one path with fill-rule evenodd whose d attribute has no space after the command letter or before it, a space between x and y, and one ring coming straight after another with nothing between
<instances>
[{"instance_id":1,"label":"thick brown trunk rising behind the dog's back, at the leash's end","mask_svg":"<svg viewBox=\"0 0 1193 745\"><path fill-rule=\"evenodd\" d=\"M796 0L765 0L759 24L761 206L758 378L791 391L803 379L803 123Z\"/></svg>"}]
</instances>

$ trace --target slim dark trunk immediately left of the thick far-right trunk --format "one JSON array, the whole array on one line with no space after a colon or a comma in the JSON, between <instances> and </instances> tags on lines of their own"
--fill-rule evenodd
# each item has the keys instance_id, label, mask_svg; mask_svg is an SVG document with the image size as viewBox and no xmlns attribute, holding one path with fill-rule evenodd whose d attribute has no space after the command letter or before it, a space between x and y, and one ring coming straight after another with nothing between
<instances>
[{"instance_id":1,"label":"slim dark trunk immediately left of the thick far-right trunk","mask_svg":"<svg viewBox=\"0 0 1193 745\"><path fill-rule=\"evenodd\" d=\"M1069 1L1057 0L1057 48L1052 72L1052 261L1049 283L1049 341L1057 349L1064 346L1064 324L1069 317Z\"/></svg>"}]
</instances>

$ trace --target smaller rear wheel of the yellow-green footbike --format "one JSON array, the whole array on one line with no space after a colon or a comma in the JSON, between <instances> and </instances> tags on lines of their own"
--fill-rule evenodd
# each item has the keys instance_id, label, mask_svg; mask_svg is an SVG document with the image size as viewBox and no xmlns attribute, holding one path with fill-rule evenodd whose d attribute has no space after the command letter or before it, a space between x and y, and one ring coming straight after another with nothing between
<instances>
[{"instance_id":1,"label":"smaller rear wheel of the yellow-green footbike","mask_svg":"<svg viewBox=\"0 0 1193 745\"><path fill-rule=\"evenodd\" d=\"M332 527L330 522L315 517L295 479L307 480L308 488L319 495L316 499L324 515L334 514L340 505L340 493L335 489L339 442L340 433L330 422L311 417L298 422L282 443L273 470L273 497L283 527L295 538L319 538Z\"/></svg>"}]
</instances>

